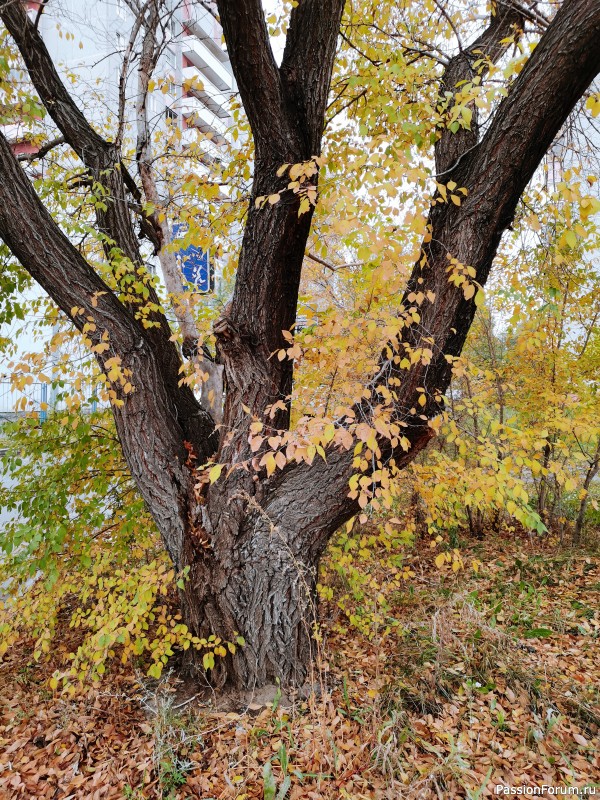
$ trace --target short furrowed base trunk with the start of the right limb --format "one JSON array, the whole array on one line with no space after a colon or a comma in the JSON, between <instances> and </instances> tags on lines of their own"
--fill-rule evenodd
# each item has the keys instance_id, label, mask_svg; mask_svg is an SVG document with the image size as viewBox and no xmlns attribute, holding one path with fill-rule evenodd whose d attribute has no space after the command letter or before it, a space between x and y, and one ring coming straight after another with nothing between
<instances>
[{"instance_id":1,"label":"short furrowed base trunk with the start of the right limb","mask_svg":"<svg viewBox=\"0 0 600 800\"><path fill-rule=\"evenodd\" d=\"M217 659L214 684L302 686L310 677L319 561L358 508L348 498L348 467L337 452L323 462L319 483L303 464L270 481L234 470L208 490L186 552L184 619L200 637L245 641Z\"/></svg>"}]
</instances>

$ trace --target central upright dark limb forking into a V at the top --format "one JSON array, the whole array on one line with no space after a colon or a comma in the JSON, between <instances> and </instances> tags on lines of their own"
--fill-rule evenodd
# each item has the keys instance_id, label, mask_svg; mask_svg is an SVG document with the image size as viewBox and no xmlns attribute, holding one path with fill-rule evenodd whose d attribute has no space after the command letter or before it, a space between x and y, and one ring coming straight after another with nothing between
<instances>
[{"instance_id":1,"label":"central upright dark limb forking into a V at the top","mask_svg":"<svg viewBox=\"0 0 600 800\"><path fill-rule=\"evenodd\" d=\"M215 326L228 388L225 428L232 431L228 457L248 457L248 416L289 423L293 364L272 358L295 324L298 288L314 206L298 213L288 192L274 205L256 197L286 191L283 164L308 162L321 149L343 0L301 0L294 7L281 70L275 64L260 0L219 0L221 24L256 148L253 196L244 231L237 280L228 313ZM316 186L317 173L311 183Z\"/></svg>"}]
</instances>

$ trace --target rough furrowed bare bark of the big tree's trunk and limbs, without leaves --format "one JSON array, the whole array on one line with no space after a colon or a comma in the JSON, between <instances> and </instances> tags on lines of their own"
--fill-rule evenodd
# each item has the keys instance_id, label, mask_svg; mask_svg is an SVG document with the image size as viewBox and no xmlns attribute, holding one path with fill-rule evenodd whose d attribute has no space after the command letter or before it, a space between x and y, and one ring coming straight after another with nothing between
<instances>
[{"instance_id":1,"label":"rough furrowed bare bark of the big tree's trunk and limbs, without leaves","mask_svg":"<svg viewBox=\"0 0 600 800\"><path fill-rule=\"evenodd\" d=\"M352 453L331 448L326 461L288 465L267 478L249 466L253 454L248 444L252 418L275 429L289 425L293 365L270 356L284 346L282 331L294 326L312 213L299 216L297 196L285 191L275 205L256 208L254 200L285 190L287 179L277 175L282 164L307 161L320 153L343 5L343 0L300 0L291 12L283 61L277 67L260 0L218 0L256 159L235 291L227 314L215 325L226 374L223 430L227 433L217 454L224 465L223 477L213 485L196 473L187 458L185 442L192 445L196 464L205 462L214 450L215 436L208 415L202 415L193 398L182 395L173 382L174 356L168 350L166 321L160 319L158 332L152 329L149 335L123 307L61 234L0 136L0 236L74 324L82 328L86 317L93 318L92 341L108 332L111 349L98 355L101 366L115 354L132 372L136 392L123 395L115 419L132 474L177 568L190 568L181 597L184 618L200 635L216 633L231 640L239 633L246 640L235 655L219 660L212 679L220 685L253 688L276 679L283 684L303 683L312 656L319 558L336 528L357 511L356 501L348 496ZM474 49L485 49L491 59L500 55L500 40L520 17L508 2L498 7L502 16L492 20L467 53L451 62L444 91L453 91L464 70L471 69L469 54ZM93 170L81 140L89 132L80 120L75 127L70 124L72 108L66 120L56 111L55 98L66 90L59 91L57 76L48 88L43 44L29 30L25 15L19 16L14 8L15 4L0 2L2 18L38 93L67 142ZM389 342L368 385L371 400L355 409L357 420L368 420L379 387L394 387L395 419L406 425L411 448L396 452L381 439L381 460L393 457L402 467L427 445L432 436L428 420L439 413L450 382L449 361L460 354L475 314L473 299L465 299L462 289L448 282L447 254L472 266L477 282L485 284L523 189L600 71L599 37L597 0L566 0L485 135L474 139L479 136L476 130L463 137L448 131L441 135L436 145L438 172L468 194L460 207L432 205L421 258L399 313L415 308L418 292L432 293L433 300L419 306L418 324L405 328L403 338ZM61 108L68 106L63 101L58 104ZM107 147L103 142L92 145L94 152ZM110 196L118 199L125 190L113 175L119 172L118 153L110 152L103 168L108 171ZM19 230L22 218L30 221L27 235ZM127 252L129 232L118 230L125 220L99 220L99 224L106 225ZM131 226L131 220L127 224ZM74 306L83 307L84 314L73 316ZM435 348L428 366L417 362L408 370L400 369L408 348L431 341ZM417 389L423 388L427 402L416 413ZM279 406L271 417L274 403Z\"/></svg>"}]
</instances>

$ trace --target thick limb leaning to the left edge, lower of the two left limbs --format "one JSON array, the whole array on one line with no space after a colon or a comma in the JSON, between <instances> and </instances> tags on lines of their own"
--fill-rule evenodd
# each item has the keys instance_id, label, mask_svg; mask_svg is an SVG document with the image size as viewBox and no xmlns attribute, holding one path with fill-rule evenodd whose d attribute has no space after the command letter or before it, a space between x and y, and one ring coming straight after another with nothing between
<instances>
[{"instance_id":1,"label":"thick limb leaning to the left edge, lower of the two left limbs","mask_svg":"<svg viewBox=\"0 0 600 800\"><path fill-rule=\"evenodd\" d=\"M181 414L185 402L194 407L187 393L181 395L178 408L164 379L160 353L62 233L2 133L0 175L0 237L87 337L103 371L118 368L119 376L108 381L108 388L119 439L131 474L178 564L184 553L186 520L199 513L194 507L193 475L185 467L184 441L191 434L197 457L207 460L214 448L212 420L200 409L193 422ZM126 383L133 385L132 391L124 388Z\"/></svg>"}]
</instances>

